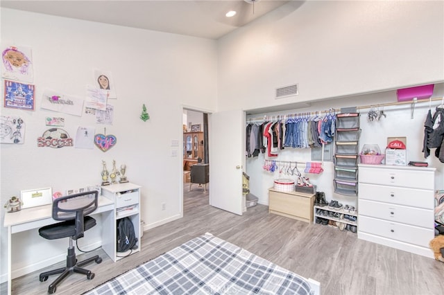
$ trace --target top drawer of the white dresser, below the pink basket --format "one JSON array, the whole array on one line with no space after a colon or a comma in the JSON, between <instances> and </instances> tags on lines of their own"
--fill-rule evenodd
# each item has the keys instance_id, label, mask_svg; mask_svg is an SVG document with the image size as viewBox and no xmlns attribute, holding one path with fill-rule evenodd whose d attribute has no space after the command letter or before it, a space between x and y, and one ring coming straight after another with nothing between
<instances>
[{"instance_id":1,"label":"top drawer of the white dresser, below the pink basket","mask_svg":"<svg viewBox=\"0 0 444 295\"><path fill-rule=\"evenodd\" d=\"M434 171L359 167L359 181L366 184L434 190Z\"/></svg>"}]
</instances>

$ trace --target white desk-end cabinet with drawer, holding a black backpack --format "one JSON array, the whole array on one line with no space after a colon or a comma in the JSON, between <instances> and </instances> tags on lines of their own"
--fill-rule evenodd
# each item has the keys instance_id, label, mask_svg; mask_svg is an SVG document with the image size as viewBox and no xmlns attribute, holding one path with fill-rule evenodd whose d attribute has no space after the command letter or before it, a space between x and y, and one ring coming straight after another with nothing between
<instances>
[{"instance_id":1,"label":"white desk-end cabinet with drawer, holding a black backpack","mask_svg":"<svg viewBox=\"0 0 444 295\"><path fill-rule=\"evenodd\" d=\"M140 251L140 188L137 184L111 184L102 186L102 195L114 201L114 210L103 215L103 250L116 262L132 253ZM137 238L137 249L125 253L117 253L117 220L130 217Z\"/></svg>"}]
</instances>

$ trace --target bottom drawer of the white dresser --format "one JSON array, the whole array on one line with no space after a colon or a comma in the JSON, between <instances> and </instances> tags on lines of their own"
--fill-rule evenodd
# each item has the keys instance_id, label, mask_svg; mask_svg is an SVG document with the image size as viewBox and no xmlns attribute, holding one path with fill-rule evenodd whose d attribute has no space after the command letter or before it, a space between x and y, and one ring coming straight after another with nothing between
<instances>
[{"instance_id":1,"label":"bottom drawer of the white dresser","mask_svg":"<svg viewBox=\"0 0 444 295\"><path fill-rule=\"evenodd\" d=\"M384 238L416 244L421 247L429 247L429 242L434 238L434 229L425 229L418 226L388 222L372 217L360 216L358 218L360 232L379 235Z\"/></svg>"}]
</instances>

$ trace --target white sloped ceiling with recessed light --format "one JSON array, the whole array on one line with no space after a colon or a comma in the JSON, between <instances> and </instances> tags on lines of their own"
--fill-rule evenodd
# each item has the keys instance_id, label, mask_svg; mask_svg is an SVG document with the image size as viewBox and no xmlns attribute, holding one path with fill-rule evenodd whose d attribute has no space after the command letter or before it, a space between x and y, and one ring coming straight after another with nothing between
<instances>
[{"instance_id":1,"label":"white sloped ceiling with recessed light","mask_svg":"<svg viewBox=\"0 0 444 295\"><path fill-rule=\"evenodd\" d=\"M287 2L294 5L285 6L286 10L294 10L303 3L256 0L254 12L253 4L243 0L2 0L0 6L105 24L219 39ZM237 10L237 15L232 18L225 17L229 10Z\"/></svg>"}]
</instances>

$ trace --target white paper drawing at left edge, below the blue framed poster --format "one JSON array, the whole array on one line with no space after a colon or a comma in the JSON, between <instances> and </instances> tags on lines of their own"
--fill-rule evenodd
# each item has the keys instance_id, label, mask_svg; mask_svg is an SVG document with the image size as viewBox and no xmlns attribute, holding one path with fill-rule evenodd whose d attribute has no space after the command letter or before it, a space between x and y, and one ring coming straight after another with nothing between
<instances>
[{"instance_id":1,"label":"white paper drawing at left edge, below the blue framed poster","mask_svg":"<svg viewBox=\"0 0 444 295\"><path fill-rule=\"evenodd\" d=\"M24 143L25 123L18 116L0 116L0 143Z\"/></svg>"}]
</instances>

